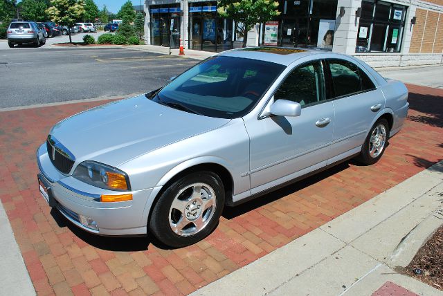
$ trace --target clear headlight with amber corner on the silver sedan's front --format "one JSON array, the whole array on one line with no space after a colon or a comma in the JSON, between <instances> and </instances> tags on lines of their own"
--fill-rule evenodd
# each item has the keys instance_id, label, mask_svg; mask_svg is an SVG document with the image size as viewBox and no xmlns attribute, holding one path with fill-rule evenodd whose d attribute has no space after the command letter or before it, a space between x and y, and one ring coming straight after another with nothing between
<instances>
[{"instance_id":1,"label":"clear headlight with amber corner on the silver sedan's front","mask_svg":"<svg viewBox=\"0 0 443 296\"><path fill-rule=\"evenodd\" d=\"M125 172L95 161L84 161L75 168L74 178L103 189L130 191L129 178Z\"/></svg>"}]
</instances>

